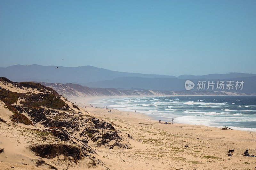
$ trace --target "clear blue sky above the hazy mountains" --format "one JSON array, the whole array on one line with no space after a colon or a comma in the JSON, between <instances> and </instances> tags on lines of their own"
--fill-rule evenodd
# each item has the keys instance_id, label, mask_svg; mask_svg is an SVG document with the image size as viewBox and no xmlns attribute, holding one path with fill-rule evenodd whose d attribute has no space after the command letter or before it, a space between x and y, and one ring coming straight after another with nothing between
<instances>
[{"instance_id":1,"label":"clear blue sky above the hazy mountains","mask_svg":"<svg viewBox=\"0 0 256 170\"><path fill-rule=\"evenodd\" d=\"M0 0L0 67L256 74L255 9L255 0Z\"/></svg>"}]
</instances>

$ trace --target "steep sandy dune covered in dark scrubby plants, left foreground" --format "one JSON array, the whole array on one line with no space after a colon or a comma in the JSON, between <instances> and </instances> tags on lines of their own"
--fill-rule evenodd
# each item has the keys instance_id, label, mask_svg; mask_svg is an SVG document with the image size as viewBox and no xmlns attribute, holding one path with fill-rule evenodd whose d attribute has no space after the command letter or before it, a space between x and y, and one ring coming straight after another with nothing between
<instances>
[{"instance_id":1,"label":"steep sandy dune covered in dark scrubby plants, left foreground","mask_svg":"<svg viewBox=\"0 0 256 170\"><path fill-rule=\"evenodd\" d=\"M3 162L53 169L106 169L91 146L131 147L128 134L39 83L17 83L1 77L0 117Z\"/></svg>"}]
</instances>

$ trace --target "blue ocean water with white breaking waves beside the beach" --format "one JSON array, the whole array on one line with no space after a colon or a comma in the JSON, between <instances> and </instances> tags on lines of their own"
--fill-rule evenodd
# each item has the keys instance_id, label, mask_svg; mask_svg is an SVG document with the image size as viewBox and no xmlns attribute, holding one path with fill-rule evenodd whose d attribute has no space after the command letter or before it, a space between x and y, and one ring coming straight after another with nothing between
<instances>
[{"instance_id":1,"label":"blue ocean water with white breaking waves beside the beach","mask_svg":"<svg viewBox=\"0 0 256 170\"><path fill-rule=\"evenodd\" d=\"M155 120L256 131L256 96L111 97L92 102L147 114Z\"/></svg>"}]
</instances>

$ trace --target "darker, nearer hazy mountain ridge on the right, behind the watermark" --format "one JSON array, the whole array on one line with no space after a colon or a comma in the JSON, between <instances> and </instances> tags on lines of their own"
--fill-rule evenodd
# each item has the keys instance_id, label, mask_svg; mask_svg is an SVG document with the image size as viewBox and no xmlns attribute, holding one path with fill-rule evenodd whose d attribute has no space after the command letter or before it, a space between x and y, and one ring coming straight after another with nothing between
<instances>
[{"instance_id":1,"label":"darker, nearer hazy mountain ridge on the right, behind the watermark","mask_svg":"<svg viewBox=\"0 0 256 170\"><path fill-rule=\"evenodd\" d=\"M229 79L190 79L196 85L197 81L244 81L244 87L242 92L256 92L256 76L229 78ZM186 79L178 78L142 78L142 77L120 77L113 80L105 80L98 82L86 83L88 87L99 88L141 88L141 89L153 89L153 90L185 90ZM195 88L196 90L196 88ZM230 90L236 91L236 90ZM237 92L241 92L238 90Z\"/></svg>"}]
</instances>

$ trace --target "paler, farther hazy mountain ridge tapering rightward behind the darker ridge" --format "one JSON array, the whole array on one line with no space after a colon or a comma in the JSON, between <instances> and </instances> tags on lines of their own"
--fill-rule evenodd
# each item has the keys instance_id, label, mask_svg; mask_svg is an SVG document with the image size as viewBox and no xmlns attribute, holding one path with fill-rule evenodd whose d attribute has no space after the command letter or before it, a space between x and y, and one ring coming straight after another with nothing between
<instances>
[{"instance_id":1,"label":"paler, farther hazy mountain ridge tapering rightward behind the darker ridge","mask_svg":"<svg viewBox=\"0 0 256 170\"><path fill-rule=\"evenodd\" d=\"M91 81L109 80L117 77L174 77L157 74L118 72L92 66L56 67L57 66L40 66L36 64L31 66L15 65L0 67L0 76L8 77L12 81L43 81L79 84Z\"/></svg>"}]
</instances>

